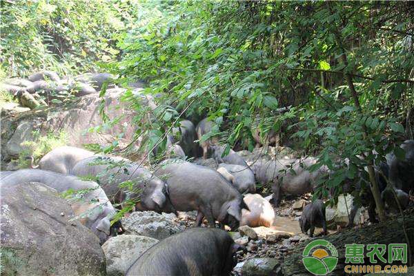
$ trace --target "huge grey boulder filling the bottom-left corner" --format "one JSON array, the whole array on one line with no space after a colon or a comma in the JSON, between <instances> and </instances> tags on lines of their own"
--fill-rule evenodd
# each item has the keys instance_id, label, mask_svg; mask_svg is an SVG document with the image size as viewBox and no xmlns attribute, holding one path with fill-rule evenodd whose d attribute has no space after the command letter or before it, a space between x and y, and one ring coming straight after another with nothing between
<instances>
[{"instance_id":1,"label":"huge grey boulder filling the bottom-left corner","mask_svg":"<svg viewBox=\"0 0 414 276\"><path fill-rule=\"evenodd\" d=\"M1 184L1 275L105 275L99 239L56 190Z\"/></svg>"}]
</instances>

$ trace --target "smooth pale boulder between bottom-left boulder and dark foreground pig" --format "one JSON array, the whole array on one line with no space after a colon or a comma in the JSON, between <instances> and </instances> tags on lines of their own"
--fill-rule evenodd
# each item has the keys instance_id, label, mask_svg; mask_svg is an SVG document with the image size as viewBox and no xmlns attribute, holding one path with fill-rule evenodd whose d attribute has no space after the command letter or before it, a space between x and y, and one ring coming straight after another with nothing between
<instances>
[{"instance_id":1,"label":"smooth pale boulder between bottom-left boulder and dark foreground pig","mask_svg":"<svg viewBox=\"0 0 414 276\"><path fill-rule=\"evenodd\" d=\"M119 235L108 239L102 246L107 276L125 275L135 260L157 242L158 239L137 235Z\"/></svg>"}]
</instances>

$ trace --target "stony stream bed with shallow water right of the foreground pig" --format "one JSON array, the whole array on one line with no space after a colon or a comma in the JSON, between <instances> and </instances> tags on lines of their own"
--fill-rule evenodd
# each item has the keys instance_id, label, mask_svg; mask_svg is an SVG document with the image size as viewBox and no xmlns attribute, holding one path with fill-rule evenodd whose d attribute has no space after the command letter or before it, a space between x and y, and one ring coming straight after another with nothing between
<instances>
[{"instance_id":1,"label":"stony stream bed with shallow water right of the foreground pig","mask_svg":"<svg viewBox=\"0 0 414 276\"><path fill-rule=\"evenodd\" d=\"M309 195L303 198L283 200L279 208L275 208L277 216L270 228L242 226L238 232L230 232L235 242L246 247L246 252L242 250L237 252L237 266L233 269L232 275L246 276L253 271L257 273L257 270L263 270L263 275L277 275L279 264L282 263L288 250L294 248L299 242L309 239L308 235L301 233L298 221L302 215L302 203L309 200ZM179 217L171 214L164 216L179 225L174 228L184 230L193 227L196 213L179 213ZM204 227L207 227L206 221L204 221ZM155 228L152 227L152 229ZM154 230L154 233L156 232L157 230ZM322 229L315 231L316 235L320 235L321 232ZM333 232L331 231L331 233ZM137 232L135 234L143 235Z\"/></svg>"}]
</instances>

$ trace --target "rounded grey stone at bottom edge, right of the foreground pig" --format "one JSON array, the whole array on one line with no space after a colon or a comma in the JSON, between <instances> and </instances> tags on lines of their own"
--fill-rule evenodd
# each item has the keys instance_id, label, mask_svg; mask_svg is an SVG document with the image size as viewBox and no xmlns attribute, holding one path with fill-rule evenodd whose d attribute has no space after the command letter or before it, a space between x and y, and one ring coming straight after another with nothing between
<instances>
[{"instance_id":1,"label":"rounded grey stone at bottom edge, right of the foreground pig","mask_svg":"<svg viewBox=\"0 0 414 276\"><path fill-rule=\"evenodd\" d=\"M274 258L248 259L242 266L243 276L281 276L282 268Z\"/></svg>"}]
</instances>

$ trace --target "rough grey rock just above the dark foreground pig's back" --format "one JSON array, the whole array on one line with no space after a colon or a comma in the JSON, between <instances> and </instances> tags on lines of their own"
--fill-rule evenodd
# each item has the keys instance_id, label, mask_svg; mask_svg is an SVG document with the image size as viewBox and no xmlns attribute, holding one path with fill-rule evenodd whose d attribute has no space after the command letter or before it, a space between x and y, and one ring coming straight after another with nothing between
<instances>
[{"instance_id":1,"label":"rough grey rock just above the dark foreground pig's back","mask_svg":"<svg viewBox=\"0 0 414 276\"><path fill-rule=\"evenodd\" d=\"M165 239L175 233L184 231L184 227L175 221L173 214L158 214L153 211L134 212L122 218L122 226L126 233Z\"/></svg>"}]
</instances>

